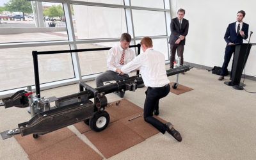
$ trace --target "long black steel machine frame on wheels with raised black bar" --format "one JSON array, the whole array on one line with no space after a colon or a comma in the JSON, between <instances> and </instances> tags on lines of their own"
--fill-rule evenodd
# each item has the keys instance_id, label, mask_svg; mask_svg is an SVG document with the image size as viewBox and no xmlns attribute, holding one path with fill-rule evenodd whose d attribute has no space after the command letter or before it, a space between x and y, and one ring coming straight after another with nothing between
<instances>
[{"instance_id":1,"label":"long black steel machine frame on wheels with raised black bar","mask_svg":"<svg viewBox=\"0 0 256 160\"><path fill-rule=\"evenodd\" d=\"M129 47L138 47L138 54L140 54L140 44L131 45ZM137 89L137 86L143 84L143 79L140 77L139 72L136 76L128 77L123 81L116 81L116 83L108 84L106 86L100 86L98 88L92 88L88 84L83 82L79 83L79 93L67 95L64 97L49 97L44 99L40 97L40 81L38 72L38 55L40 54L61 54L65 52L86 52L86 51L102 51L108 50L106 48L97 49L76 49L76 50L64 50L64 51L47 51L37 52L33 51L34 72L35 72L35 86L36 97L33 97L31 86L28 86L27 90L20 90L11 97L3 99L3 103L0 106L10 108L12 106L18 108L30 107L31 120L19 124L18 128L1 132L3 139L10 138L14 134L21 133L22 136L33 134L34 138L38 137L38 134L46 134L48 132L56 131L68 125L75 124L77 122L84 121L89 124L93 131L102 131L109 124L109 115L104 111L108 105L106 94L120 91L133 91ZM166 70L167 76L179 74L190 70L189 66L177 67L174 69ZM90 100L93 99L94 103ZM55 106L51 108L50 102L55 102ZM37 109L37 114L36 113ZM97 123L103 123L99 118L105 119L104 124L97 125ZM100 127L99 127L100 126Z\"/></svg>"}]
</instances>

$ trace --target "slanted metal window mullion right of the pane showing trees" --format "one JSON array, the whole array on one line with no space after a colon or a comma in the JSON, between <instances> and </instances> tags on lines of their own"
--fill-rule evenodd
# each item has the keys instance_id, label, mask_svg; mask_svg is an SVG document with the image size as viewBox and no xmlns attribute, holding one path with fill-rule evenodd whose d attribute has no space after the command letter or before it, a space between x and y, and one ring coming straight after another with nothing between
<instances>
[{"instance_id":1,"label":"slanted metal window mullion right of the pane showing trees","mask_svg":"<svg viewBox=\"0 0 256 160\"><path fill-rule=\"evenodd\" d=\"M68 41L72 42L70 44L70 49L77 49L76 36L75 36L74 26L72 22L72 13L70 8L70 3L63 3L63 10L65 13L65 20L67 25ZM81 81L82 75L81 75L81 68L80 68L78 53L72 52L71 56L72 56L75 78Z\"/></svg>"}]
</instances>

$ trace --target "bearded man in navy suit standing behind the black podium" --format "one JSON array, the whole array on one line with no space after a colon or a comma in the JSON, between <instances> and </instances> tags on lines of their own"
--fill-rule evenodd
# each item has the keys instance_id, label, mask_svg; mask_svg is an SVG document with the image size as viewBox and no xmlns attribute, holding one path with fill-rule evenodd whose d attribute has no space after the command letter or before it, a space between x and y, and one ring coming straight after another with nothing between
<instances>
[{"instance_id":1,"label":"bearded man in navy suit standing behind the black podium","mask_svg":"<svg viewBox=\"0 0 256 160\"><path fill-rule=\"evenodd\" d=\"M224 56L224 62L221 68L219 81L222 81L224 79L224 76L227 75L227 67L228 63L230 61L230 58L235 52L235 45L232 44L243 44L243 39L246 40L248 38L248 29L249 24L246 24L243 22L243 18L245 16L245 12L243 10L237 12L236 16L236 22L231 23L228 25L227 31L225 33L224 39L227 42L227 47L225 49L225 56ZM234 61L234 58L233 58ZM232 62L232 68L233 68L233 62ZM230 80L232 77L232 69L230 72Z\"/></svg>"}]
</instances>

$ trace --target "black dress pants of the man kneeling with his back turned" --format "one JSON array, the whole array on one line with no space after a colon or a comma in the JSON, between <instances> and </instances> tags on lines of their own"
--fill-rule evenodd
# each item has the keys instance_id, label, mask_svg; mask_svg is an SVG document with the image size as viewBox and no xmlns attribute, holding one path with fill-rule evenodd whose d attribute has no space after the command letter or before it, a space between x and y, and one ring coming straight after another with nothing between
<instances>
[{"instance_id":1,"label":"black dress pants of the man kneeling with his back turned","mask_svg":"<svg viewBox=\"0 0 256 160\"><path fill-rule=\"evenodd\" d=\"M166 84L163 87L148 87L146 93L146 99L144 104L144 120L148 122L148 124L153 125L158 131L164 134L166 131L166 126L163 122L160 122L156 118L153 117L154 108L158 108L159 100L170 92L170 85Z\"/></svg>"}]
</instances>

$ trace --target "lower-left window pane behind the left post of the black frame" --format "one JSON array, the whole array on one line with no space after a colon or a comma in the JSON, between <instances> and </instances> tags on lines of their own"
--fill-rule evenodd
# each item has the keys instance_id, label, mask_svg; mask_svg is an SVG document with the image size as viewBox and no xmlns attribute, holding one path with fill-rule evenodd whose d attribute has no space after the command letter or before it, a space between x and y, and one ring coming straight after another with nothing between
<instances>
[{"instance_id":1,"label":"lower-left window pane behind the left post of the black frame","mask_svg":"<svg viewBox=\"0 0 256 160\"><path fill-rule=\"evenodd\" d=\"M35 84L32 51L69 49L68 45L1 49L0 91ZM40 83L74 77L70 53L38 55Z\"/></svg>"}]
</instances>

